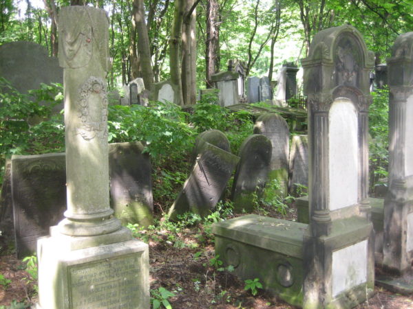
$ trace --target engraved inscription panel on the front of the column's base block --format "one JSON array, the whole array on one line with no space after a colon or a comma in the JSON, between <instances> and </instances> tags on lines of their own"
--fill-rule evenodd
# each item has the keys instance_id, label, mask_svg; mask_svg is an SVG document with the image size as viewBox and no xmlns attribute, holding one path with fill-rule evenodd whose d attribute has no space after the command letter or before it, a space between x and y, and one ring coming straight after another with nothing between
<instances>
[{"instance_id":1,"label":"engraved inscription panel on the front of the column's base block","mask_svg":"<svg viewBox=\"0 0 413 309\"><path fill-rule=\"evenodd\" d=\"M135 308L139 304L140 255L71 266L71 308Z\"/></svg>"}]
</instances>

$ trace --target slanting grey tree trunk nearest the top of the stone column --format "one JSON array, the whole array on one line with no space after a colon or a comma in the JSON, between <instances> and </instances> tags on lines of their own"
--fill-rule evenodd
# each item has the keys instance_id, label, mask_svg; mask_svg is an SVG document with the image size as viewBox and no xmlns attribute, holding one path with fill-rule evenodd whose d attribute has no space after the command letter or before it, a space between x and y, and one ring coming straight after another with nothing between
<instances>
[{"instance_id":1,"label":"slanting grey tree trunk nearest the top of the stone column","mask_svg":"<svg viewBox=\"0 0 413 309\"><path fill-rule=\"evenodd\" d=\"M153 84L153 71L151 64L151 52L149 50L149 36L147 26L145 25L145 9L143 0L134 0L132 10L138 32L138 52L140 56L140 69L145 88L151 90Z\"/></svg>"}]
</instances>

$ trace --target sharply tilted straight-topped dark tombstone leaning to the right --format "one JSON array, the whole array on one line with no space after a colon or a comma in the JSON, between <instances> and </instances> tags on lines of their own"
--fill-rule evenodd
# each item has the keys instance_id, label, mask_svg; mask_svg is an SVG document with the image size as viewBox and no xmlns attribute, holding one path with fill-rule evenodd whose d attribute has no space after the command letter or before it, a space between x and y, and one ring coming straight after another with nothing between
<instances>
[{"instance_id":1,"label":"sharply tilted straight-topped dark tombstone leaning to the right","mask_svg":"<svg viewBox=\"0 0 413 309\"><path fill-rule=\"evenodd\" d=\"M169 218L191 211L208 216L220 200L239 158L209 143L202 146L191 174L169 210Z\"/></svg>"}]
</instances>

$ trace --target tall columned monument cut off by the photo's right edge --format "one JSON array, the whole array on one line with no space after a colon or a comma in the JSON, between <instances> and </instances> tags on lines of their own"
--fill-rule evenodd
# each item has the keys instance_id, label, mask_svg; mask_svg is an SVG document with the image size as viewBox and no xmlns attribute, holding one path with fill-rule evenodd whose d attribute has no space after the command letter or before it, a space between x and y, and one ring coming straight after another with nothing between
<instances>
[{"instance_id":1,"label":"tall columned monument cut off by the photo's right edge","mask_svg":"<svg viewBox=\"0 0 413 309\"><path fill-rule=\"evenodd\" d=\"M413 32L401 34L388 58L389 102L389 174L388 194L384 201L383 269L395 275L410 273L408 290L413 293ZM389 276L379 278L381 283ZM403 277L388 284L394 286ZM399 284L394 281L399 281Z\"/></svg>"}]
</instances>

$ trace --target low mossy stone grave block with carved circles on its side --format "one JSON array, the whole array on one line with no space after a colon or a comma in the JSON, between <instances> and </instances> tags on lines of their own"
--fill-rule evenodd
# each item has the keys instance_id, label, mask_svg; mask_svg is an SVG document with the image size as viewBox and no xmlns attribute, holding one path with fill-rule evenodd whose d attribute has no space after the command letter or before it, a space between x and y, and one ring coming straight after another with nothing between
<instances>
[{"instance_id":1,"label":"low mossy stone grave block with carved circles on its side","mask_svg":"<svg viewBox=\"0 0 413 309\"><path fill-rule=\"evenodd\" d=\"M215 254L242 279L294 306L303 304L303 234L307 225L257 215L213 225Z\"/></svg>"}]
</instances>

